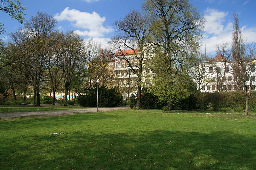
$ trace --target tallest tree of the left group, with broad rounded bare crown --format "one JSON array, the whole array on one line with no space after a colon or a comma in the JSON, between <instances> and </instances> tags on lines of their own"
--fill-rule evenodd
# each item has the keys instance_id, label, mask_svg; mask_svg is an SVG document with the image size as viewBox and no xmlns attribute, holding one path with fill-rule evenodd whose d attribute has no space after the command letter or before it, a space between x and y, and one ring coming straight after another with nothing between
<instances>
[{"instance_id":1,"label":"tallest tree of the left group, with broad rounded bare crown","mask_svg":"<svg viewBox=\"0 0 256 170\"><path fill-rule=\"evenodd\" d=\"M34 104L40 106L40 88L44 81L46 62L52 46L56 43L57 21L51 15L38 12L25 23L24 28L11 34L13 43L18 47L22 57L23 69L28 73L34 88ZM29 52L28 52L29 51Z\"/></svg>"}]
</instances>

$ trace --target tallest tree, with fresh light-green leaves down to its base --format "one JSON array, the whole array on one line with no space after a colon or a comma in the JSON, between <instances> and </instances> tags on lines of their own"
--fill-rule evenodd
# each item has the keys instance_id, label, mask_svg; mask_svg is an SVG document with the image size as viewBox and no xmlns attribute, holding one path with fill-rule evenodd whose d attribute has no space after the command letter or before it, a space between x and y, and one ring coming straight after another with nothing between
<instances>
[{"instance_id":1,"label":"tallest tree, with fresh light-green leaves down to its base","mask_svg":"<svg viewBox=\"0 0 256 170\"><path fill-rule=\"evenodd\" d=\"M190 95L181 82L199 48L204 19L188 0L145 0L143 9L151 14L152 43L157 50L152 59L156 65L153 92L159 100L168 100L171 110L172 101Z\"/></svg>"}]
</instances>

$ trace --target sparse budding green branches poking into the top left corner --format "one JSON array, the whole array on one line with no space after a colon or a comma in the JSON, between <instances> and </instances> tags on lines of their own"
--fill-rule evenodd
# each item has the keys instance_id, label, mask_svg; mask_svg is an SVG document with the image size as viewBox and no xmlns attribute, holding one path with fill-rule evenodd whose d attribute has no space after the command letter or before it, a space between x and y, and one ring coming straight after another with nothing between
<instances>
[{"instance_id":1,"label":"sparse budding green branches poking into the top left corner","mask_svg":"<svg viewBox=\"0 0 256 170\"><path fill-rule=\"evenodd\" d=\"M25 19L23 16L27 9L24 6L21 6L20 1L17 0L0 0L0 11L4 11L8 15L11 16L11 19L16 19L21 24L23 24L23 20ZM0 22L0 35L4 35L5 29L4 24Z\"/></svg>"}]
</instances>

